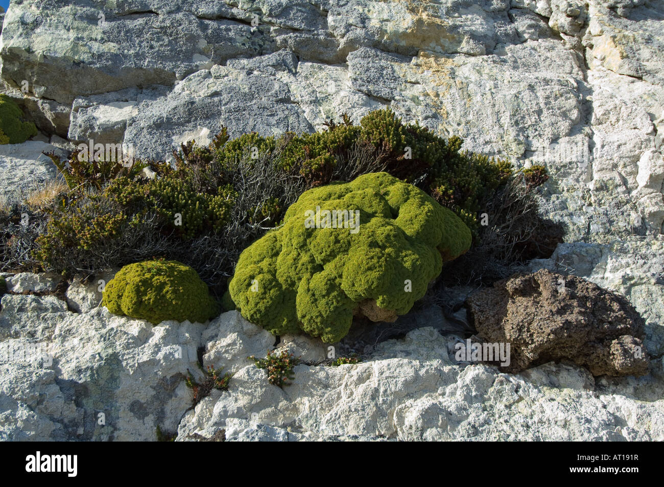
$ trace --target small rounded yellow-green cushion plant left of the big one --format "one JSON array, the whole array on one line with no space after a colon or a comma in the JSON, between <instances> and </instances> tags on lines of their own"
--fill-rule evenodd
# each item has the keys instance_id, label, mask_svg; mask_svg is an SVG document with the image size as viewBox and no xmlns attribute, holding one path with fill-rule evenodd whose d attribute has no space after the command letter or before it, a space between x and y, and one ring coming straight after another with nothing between
<instances>
[{"instance_id":1,"label":"small rounded yellow-green cushion plant left of the big one","mask_svg":"<svg viewBox=\"0 0 664 487\"><path fill-rule=\"evenodd\" d=\"M159 324L203 323L218 314L208 286L193 268L176 260L145 260L124 266L106 284L103 306L113 314Z\"/></svg>"}]
</instances>

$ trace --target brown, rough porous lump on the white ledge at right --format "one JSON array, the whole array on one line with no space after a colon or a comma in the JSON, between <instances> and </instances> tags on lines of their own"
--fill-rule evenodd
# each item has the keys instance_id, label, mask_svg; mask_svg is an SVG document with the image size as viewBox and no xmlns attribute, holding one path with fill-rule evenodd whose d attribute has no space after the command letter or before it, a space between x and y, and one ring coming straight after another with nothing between
<instances>
[{"instance_id":1,"label":"brown, rough porous lump on the white ledge at right","mask_svg":"<svg viewBox=\"0 0 664 487\"><path fill-rule=\"evenodd\" d=\"M568 359L592 375L643 375L645 322L622 296L549 270L515 274L466 300L481 341L510 343L516 373Z\"/></svg>"}]
</instances>

